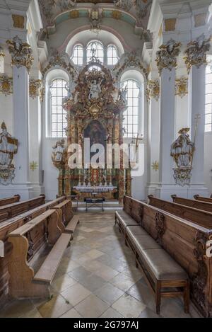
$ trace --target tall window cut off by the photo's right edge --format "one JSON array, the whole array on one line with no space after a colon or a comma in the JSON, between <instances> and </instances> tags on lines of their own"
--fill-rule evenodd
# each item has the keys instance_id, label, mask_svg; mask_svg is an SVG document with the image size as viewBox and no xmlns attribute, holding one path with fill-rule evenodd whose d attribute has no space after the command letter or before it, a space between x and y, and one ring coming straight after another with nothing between
<instances>
[{"instance_id":1,"label":"tall window cut off by the photo's right edge","mask_svg":"<svg viewBox=\"0 0 212 332\"><path fill-rule=\"evenodd\" d=\"M206 67L206 132L212 131L212 65Z\"/></svg>"}]
</instances>

